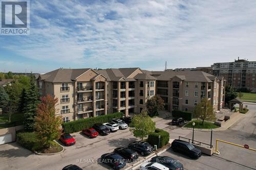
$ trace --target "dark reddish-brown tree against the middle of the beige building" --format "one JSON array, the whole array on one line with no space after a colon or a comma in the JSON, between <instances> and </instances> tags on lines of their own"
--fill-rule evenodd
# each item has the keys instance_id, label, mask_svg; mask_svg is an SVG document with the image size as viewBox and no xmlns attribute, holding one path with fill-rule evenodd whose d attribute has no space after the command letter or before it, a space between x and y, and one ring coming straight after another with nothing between
<instances>
[{"instance_id":1,"label":"dark reddish-brown tree against the middle of the beige building","mask_svg":"<svg viewBox=\"0 0 256 170\"><path fill-rule=\"evenodd\" d=\"M158 111L164 109L164 101L159 95L155 95L146 101L146 108L151 116L158 115Z\"/></svg>"}]
</instances>

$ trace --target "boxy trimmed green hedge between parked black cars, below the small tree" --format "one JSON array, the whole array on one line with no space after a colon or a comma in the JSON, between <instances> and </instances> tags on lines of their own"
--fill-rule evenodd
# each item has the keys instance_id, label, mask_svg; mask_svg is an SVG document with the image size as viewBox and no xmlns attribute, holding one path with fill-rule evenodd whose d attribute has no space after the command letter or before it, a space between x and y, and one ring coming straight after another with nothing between
<instances>
[{"instance_id":1,"label":"boxy trimmed green hedge between parked black cars, below the small tree","mask_svg":"<svg viewBox=\"0 0 256 170\"><path fill-rule=\"evenodd\" d=\"M160 145L159 145L159 135L160 135ZM153 147L156 144L158 148L162 148L169 142L169 133L162 130L156 129L155 132L151 133L147 137L147 142Z\"/></svg>"}]
</instances>

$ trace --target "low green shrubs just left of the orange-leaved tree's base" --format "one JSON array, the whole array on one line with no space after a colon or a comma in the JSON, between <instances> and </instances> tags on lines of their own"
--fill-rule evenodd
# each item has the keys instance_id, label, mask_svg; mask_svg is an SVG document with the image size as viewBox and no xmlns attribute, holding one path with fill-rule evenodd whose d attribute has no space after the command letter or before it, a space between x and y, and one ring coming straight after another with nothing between
<instances>
[{"instance_id":1,"label":"low green shrubs just left of the orange-leaved tree's base","mask_svg":"<svg viewBox=\"0 0 256 170\"><path fill-rule=\"evenodd\" d=\"M37 145L36 135L33 132L19 132L16 134L17 142L30 151Z\"/></svg>"}]
</instances>

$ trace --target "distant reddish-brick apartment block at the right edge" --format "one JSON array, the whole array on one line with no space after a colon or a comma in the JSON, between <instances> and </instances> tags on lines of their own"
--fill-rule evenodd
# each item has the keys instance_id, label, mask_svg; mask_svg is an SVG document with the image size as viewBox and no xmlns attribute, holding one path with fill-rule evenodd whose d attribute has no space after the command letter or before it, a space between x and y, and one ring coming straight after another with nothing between
<instances>
[{"instance_id":1,"label":"distant reddish-brick apartment block at the right edge","mask_svg":"<svg viewBox=\"0 0 256 170\"><path fill-rule=\"evenodd\" d=\"M227 84L236 89L249 89L256 92L256 61L243 59L234 62L214 63L213 75L223 76Z\"/></svg>"}]
</instances>

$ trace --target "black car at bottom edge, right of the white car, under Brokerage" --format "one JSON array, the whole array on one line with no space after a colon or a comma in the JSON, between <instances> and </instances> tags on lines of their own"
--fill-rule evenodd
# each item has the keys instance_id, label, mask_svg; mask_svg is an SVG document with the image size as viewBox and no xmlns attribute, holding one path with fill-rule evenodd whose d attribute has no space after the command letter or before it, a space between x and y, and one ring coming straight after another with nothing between
<instances>
[{"instance_id":1,"label":"black car at bottom edge, right of the white car, under Brokerage","mask_svg":"<svg viewBox=\"0 0 256 170\"><path fill-rule=\"evenodd\" d=\"M168 156L155 156L151 159L151 162L160 163L169 169L176 170L180 169L183 170L183 165L176 159L168 157Z\"/></svg>"}]
</instances>

